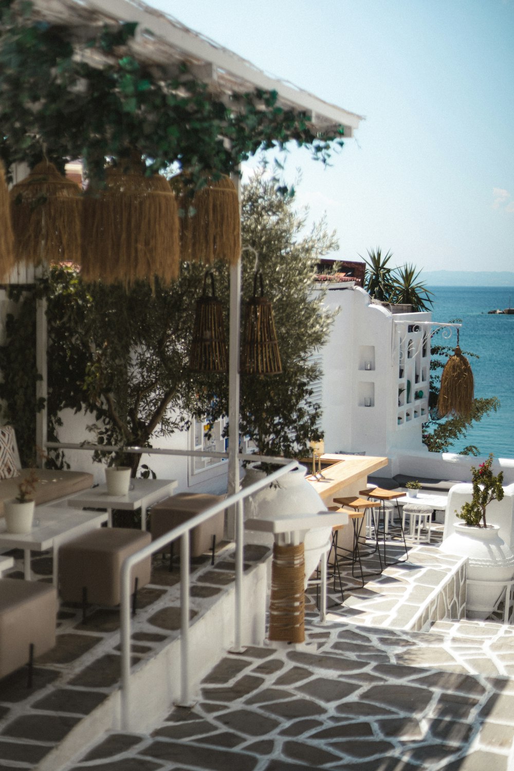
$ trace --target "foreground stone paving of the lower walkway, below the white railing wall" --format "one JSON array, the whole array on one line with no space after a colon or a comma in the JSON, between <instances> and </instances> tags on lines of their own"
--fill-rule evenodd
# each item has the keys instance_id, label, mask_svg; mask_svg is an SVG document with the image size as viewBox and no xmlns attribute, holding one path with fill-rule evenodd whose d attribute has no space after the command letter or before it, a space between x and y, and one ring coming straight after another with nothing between
<instances>
[{"instance_id":1,"label":"foreground stone paving of the lower walkway, below the white railing wall","mask_svg":"<svg viewBox=\"0 0 514 771\"><path fill-rule=\"evenodd\" d=\"M510 678L453 671L432 635L336 623L308 631L312 651L227 655L192 709L173 709L149 734L112 732L66 771L514 767ZM432 661L409 661L425 641Z\"/></svg>"}]
</instances>

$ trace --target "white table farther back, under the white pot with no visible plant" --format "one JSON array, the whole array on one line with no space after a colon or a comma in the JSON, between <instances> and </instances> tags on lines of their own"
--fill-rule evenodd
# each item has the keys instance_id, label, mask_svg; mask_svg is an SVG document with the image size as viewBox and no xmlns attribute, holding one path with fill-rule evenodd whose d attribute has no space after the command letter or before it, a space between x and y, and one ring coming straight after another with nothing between
<instances>
[{"instance_id":1,"label":"white table farther back, under the white pot with no visible plant","mask_svg":"<svg viewBox=\"0 0 514 771\"><path fill-rule=\"evenodd\" d=\"M105 509L109 527L113 527L113 509L136 511L141 509L141 530L146 530L146 509L173 494L177 480L130 480L126 495L109 495L107 485L101 484L68 499L68 505L79 509Z\"/></svg>"}]
</instances>

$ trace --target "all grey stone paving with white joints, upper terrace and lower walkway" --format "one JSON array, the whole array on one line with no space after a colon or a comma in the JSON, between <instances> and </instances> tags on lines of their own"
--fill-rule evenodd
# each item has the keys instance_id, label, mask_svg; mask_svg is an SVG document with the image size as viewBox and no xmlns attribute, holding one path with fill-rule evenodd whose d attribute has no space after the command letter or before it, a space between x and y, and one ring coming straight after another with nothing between
<instances>
[{"instance_id":1,"label":"all grey stone paving with white joints, upper terrace and lower walkway","mask_svg":"<svg viewBox=\"0 0 514 771\"><path fill-rule=\"evenodd\" d=\"M233 580L232 547L225 548L214 568L197 566L198 603L216 601ZM259 555L247 552L248 564L250 557ZM41 557L34 567L45 580L51 561ZM106 732L52 771L512 771L514 628L442 620L438 611L455 610L462 599L461 569L456 558L438 561L433 545L414 547L408 563L364 588L347 569L342 603L338 584L337 591L329 584L325 625L311 586L310 646L227 654L203 680L193 709L171 710L144 734ZM136 631L136 657L178 634L176 581L178 572L156 564L142 600L145 619L158 623ZM425 621L435 622L431 631L417 631L420 609L434 601L435 615ZM38 769L118 687L118 619L117 611L97 609L85 628L76 608L62 608L59 644L37 662L37 688L27 692L22 671L0 681L0 769Z\"/></svg>"}]
</instances>

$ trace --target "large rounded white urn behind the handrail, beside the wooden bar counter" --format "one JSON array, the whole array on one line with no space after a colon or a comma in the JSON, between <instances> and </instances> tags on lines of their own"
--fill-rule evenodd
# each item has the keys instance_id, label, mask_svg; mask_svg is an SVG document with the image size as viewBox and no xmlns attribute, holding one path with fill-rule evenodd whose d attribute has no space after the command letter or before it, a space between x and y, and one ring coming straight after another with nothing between
<instances>
[{"instance_id":1,"label":"large rounded white urn behind the handrail, beside the wooden bar counter","mask_svg":"<svg viewBox=\"0 0 514 771\"><path fill-rule=\"evenodd\" d=\"M263 471L247 469L241 487L248 487L265 476ZM280 479L254 493L245 500L244 518L274 519L274 517L297 517L298 514L313 514L326 511L327 507L314 487L306 479L307 471L301 467L290 471ZM317 527L309 530L304 539L305 587L316 570L321 554L331 544L331 527ZM247 531L250 543L273 544L273 535Z\"/></svg>"}]
</instances>

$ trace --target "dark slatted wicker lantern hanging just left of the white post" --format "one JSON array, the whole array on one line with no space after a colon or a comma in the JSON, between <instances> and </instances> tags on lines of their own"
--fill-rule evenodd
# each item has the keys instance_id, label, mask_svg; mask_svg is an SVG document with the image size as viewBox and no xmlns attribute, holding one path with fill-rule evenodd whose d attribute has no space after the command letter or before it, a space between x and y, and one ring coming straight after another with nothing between
<instances>
[{"instance_id":1,"label":"dark slatted wicker lantern hanging just left of the white post","mask_svg":"<svg viewBox=\"0 0 514 771\"><path fill-rule=\"evenodd\" d=\"M209 277L212 295L207 294ZM223 307L216 296L213 273L207 271L203 278L202 296L197 300L190 370L192 372L227 372L227 360Z\"/></svg>"}]
</instances>

